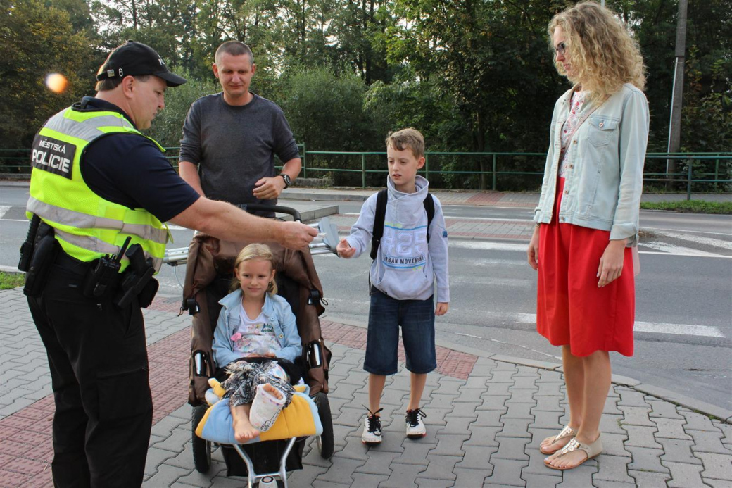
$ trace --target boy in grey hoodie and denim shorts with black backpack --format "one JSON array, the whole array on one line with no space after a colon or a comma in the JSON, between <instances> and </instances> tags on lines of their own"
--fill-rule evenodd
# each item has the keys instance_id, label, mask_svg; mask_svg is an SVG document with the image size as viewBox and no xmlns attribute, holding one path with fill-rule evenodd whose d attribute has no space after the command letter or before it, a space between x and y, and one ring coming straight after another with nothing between
<instances>
[{"instance_id":1,"label":"boy in grey hoodie and denim shorts with black backpack","mask_svg":"<svg viewBox=\"0 0 732 488\"><path fill-rule=\"evenodd\" d=\"M417 176L425 165L425 138L413 128L386 137L389 177L384 234L370 271L371 306L364 369L369 372L368 415L361 440L381 443L379 402L386 375L397 372L399 326L402 327L406 368L410 371L406 436L424 437L426 417L419 402L427 373L437 367L435 316L447 312L447 230L438 199L427 193L429 183ZM364 203L351 235L340 240L338 255L358 257L370 243L376 219L378 193ZM433 199L433 219L428 224L425 199ZM377 229L378 232L378 229ZM373 254L372 254L373 256ZM437 306L433 309L437 279Z\"/></svg>"}]
</instances>

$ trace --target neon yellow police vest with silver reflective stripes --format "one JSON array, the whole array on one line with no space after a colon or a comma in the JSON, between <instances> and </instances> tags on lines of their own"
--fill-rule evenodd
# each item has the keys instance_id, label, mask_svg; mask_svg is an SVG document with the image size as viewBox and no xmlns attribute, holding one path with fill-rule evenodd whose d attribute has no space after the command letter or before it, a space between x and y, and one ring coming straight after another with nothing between
<instances>
[{"instance_id":1,"label":"neon yellow police vest with silver reflective stripes","mask_svg":"<svg viewBox=\"0 0 732 488\"><path fill-rule=\"evenodd\" d=\"M27 214L30 217L34 213L53 226L61 247L76 259L89 262L105 254L116 254L129 236L131 243L142 246L146 258L152 258L157 271L168 242L167 227L146 210L131 210L103 199L81 177L83 150L108 133L146 137L116 112L67 108L51 117L34 140ZM163 151L160 144L149 140ZM59 155L52 154L53 149L69 157L73 152L70 165L59 169ZM127 264L127 259L123 259L122 269Z\"/></svg>"}]
</instances>

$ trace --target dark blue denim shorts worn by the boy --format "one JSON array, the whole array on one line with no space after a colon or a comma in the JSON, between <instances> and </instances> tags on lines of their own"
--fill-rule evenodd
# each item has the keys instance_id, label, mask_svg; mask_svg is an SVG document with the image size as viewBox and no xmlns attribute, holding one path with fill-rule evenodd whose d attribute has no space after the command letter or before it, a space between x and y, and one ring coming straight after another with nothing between
<instances>
[{"instance_id":1,"label":"dark blue denim shorts worn by the boy","mask_svg":"<svg viewBox=\"0 0 732 488\"><path fill-rule=\"evenodd\" d=\"M373 289L368 314L366 371L384 376L397 372L400 325L408 371L424 374L436 369L433 297L395 300Z\"/></svg>"}]
</instances>

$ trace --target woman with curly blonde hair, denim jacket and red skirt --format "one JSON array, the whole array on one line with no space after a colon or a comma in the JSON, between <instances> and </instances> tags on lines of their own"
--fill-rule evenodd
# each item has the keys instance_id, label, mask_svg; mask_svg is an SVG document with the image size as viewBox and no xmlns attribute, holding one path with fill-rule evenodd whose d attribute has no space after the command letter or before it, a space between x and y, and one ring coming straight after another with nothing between
<instances>
[{"instance_id":1,"label":"woman with curly blonde hair, denim jacket and red skirt","mask_svg":"<svg viewBox=\"0 0 732 488\"><path fill-rule=\"evenodd\" d=\"M569 423L540 450L548 467L567 470L602 452L609 352L633 352L649 108L638 44L610 10L584 1L555 15L548 33L574 86L554 106L527 254L539 272L537 330L562 348L569 400Z\"/></svg>"}]
</instances>

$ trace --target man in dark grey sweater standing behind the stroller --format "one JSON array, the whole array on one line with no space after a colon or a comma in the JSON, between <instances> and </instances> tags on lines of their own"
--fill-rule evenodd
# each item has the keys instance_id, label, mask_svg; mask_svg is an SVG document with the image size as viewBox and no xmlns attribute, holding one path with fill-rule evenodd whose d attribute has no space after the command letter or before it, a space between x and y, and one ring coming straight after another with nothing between
<instances>
[{"instance_id":1,"label":"man in dark grey sweater standing behind the stroller","mask_svg":"<svg viewBox=\"0 0 732 488\"><path fill-rule=\"evenodd\" d=\"M302 168L285 114L276 103L249 91L257 68L249 46L224 42L215 61L214 75L223 91L195 100L188 111L179 156L181 177L209 199L277 204ZM275 155L285 161L278 175Z\"/></svg>"}]
</instances>

